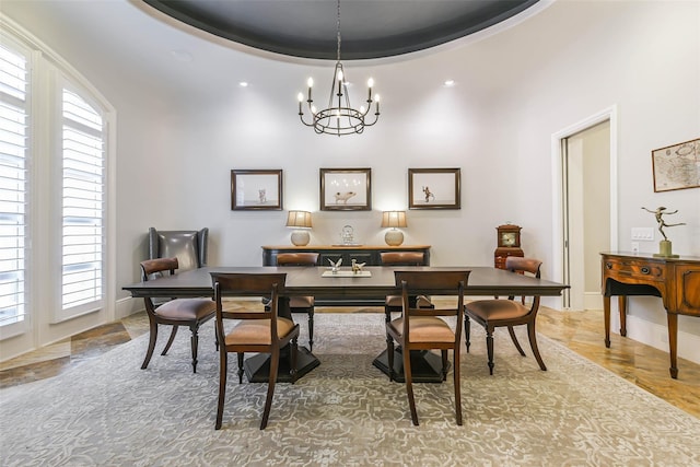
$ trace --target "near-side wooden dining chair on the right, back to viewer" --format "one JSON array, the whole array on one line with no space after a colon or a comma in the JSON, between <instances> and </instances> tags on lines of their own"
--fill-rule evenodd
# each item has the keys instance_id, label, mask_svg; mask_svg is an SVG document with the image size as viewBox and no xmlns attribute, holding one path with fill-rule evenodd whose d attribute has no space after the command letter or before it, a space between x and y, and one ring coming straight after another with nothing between
<instances>
[{"instance_id":1,"label":"near-side wooden dining chair on the right, back to viewer","mask_svg":"<svg viewBox=\"0 0 700 467\"><path fill-rule=\"evenodd\" d=\"M459 340L464 317L464 291L469 280L468 270L395 271L396 285L401 288L401 316L386 324L386 351L389 381L395 380L394 341L401 347L404 380L411 411L411 421L418 425L413 398L411 351L438 349L442 353L443 381L447 378L447 351L453 351L455 413L462 424L462 395L459 390ZM448 308L420 308L410 305L411 294L456 296L457 306ZM456 316L454 328L442 317Z\"/></svg>"}]
</instances>

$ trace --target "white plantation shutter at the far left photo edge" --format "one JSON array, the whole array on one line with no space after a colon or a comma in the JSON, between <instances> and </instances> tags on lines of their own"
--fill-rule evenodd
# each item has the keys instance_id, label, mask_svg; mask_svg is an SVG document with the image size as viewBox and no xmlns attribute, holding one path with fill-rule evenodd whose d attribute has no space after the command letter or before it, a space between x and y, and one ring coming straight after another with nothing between
<instances>
[{"instance_id":1,"label":"white plantation shutter at the far left photo edge","mask_svg":"<svg viewBox=\"0 0 700 467\"><path fill-rule=\"evenodd\" d=\"M27 61L0 45L0 326L26 314Z\"/></svg>"}]
</instances>

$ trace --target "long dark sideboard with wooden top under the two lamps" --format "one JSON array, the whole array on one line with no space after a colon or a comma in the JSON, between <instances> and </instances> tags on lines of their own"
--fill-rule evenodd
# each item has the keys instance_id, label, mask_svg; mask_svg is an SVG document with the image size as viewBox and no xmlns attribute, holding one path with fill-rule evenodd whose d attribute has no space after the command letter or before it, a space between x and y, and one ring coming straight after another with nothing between
<instances>
[{"instance_id":1,"label":"long dark sideboard with wooden top under the two lamps","mask_svg":"<svg viewBox=\"0 0 700 467\"><path fill-rule=\"evenodd\" d=\"M306 245L306 246L262 246L262 266L276 266L280 253L318 253L318 266L330 266L342 258L342 266L349 267L354 259L366 266L381 266L384 252L422 252L423 266L430 266L430 245ZM384 306L384 301L368 300L323 300L318 306Z\"/></svg>"}]
</instances>

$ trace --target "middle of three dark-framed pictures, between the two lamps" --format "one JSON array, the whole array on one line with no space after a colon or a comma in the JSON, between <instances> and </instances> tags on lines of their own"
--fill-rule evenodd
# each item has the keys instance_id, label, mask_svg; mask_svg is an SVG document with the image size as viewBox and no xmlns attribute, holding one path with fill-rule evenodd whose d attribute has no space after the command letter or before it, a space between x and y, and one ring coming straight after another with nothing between
<instances>
[{"instance_id":1,"label":"middle of three dark-framed pictures, between the two lamps","mask_svg":"<svg viewBox=\"0 0 700 467\"><path fill-rule=\"evenodd\" d=\"M371 168L322 168L322 211L371 211Z\"/></svg>"}]
</instances>

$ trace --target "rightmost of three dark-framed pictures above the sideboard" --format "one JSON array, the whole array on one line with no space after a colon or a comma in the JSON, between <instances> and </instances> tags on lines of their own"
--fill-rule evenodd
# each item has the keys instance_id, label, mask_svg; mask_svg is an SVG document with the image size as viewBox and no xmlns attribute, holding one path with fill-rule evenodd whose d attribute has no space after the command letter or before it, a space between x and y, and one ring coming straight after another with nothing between
<instances>
[{"instance_id":1,"label":"rightmost of three dark-framed pictures above the sideboard","mask_svg":"<svg viewBox=\"0 0 700 467\"><path fill-rule=\"evenodd\" d=\"M409 168L408 209L460 209L459 168Z\"/></svg>"}]
</instances>

